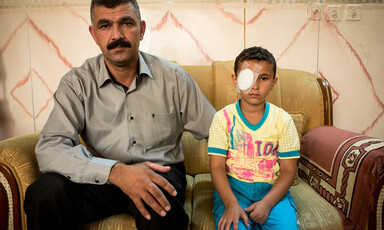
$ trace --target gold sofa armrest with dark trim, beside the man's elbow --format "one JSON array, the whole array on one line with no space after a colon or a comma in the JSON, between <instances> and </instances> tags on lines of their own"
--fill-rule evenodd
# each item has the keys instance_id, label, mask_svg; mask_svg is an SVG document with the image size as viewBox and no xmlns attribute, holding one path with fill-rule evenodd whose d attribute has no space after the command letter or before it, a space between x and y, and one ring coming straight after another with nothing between
<instances>
[{"instance_id":1,"label":"gold sofa armrest with dark trim, beside the man's elbow","mask_svg":"<svg viewBox=\"0 0 384 230\"><path fill-rule=\"evenodd\" d=\"M4 201L0 206L1 229L26 229L25 190L40 175L37 141L38 133L0 141L0 200Z\"/></svg>"}]
</instances>

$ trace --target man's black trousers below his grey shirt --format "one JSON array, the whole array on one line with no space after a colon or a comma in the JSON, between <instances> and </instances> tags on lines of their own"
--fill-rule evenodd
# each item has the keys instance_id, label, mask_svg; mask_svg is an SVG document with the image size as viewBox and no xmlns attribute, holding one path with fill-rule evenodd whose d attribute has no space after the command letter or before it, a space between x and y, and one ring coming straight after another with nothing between
<instances>
[{"instance_id":1,"label":"man's black trousers below his grey shirt","mask_svg":"<svg viewBox=\"0 0 384 230\"><path fill-rule=\"evenodd\" d=\"M175 187L177 196L162 189L171 210L161 217L147 206L151 214L151 220L147 220L115 185L79 184L57 173L45 173L27 188L25 194L28 230L78 229L81 223L118 213L133 216L138 229L187 229L188 215L183 208L187 183L184 165L171 165L169 172L158 174Z\"/></svg>"}]
</instances>

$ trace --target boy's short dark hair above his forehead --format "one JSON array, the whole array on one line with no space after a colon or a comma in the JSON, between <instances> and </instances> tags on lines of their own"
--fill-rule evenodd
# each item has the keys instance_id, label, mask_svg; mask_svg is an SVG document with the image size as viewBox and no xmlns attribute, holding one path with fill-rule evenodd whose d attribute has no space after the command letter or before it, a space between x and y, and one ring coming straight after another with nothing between
<instances>
[{"instance_id":1,"label":"boy's short dark hair above his forehead","mask_svg":"<svg viewBox=\"0 0 384 230\"><path fill-rule=\"evenodd\" d=\"M240 63L257 60L257 61L266 61L273 65L273 78L276 76L276 60L275 57L267 50L259 46L253 46L247 49L244 49L235 59L235 74L237 76L237 71L240 68Z\"/></svg>"}]
</instances>

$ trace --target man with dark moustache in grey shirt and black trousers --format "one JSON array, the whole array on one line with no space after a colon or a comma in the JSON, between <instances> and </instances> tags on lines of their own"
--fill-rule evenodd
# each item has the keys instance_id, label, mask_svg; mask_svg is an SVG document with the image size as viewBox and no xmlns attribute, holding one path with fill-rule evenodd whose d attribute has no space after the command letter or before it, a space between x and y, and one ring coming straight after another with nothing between
<instances>
[{"instance_id":1,"label":"man with dark moustache in grey shirt and black trousers","mask_svg":"<svg viewBox=\"0 0 384 230\"><path fill-rule=\"evenodd\" d=\"M207 138L215 110L179 66L139 52L146 24L135 0L93 0L91 20L102 55L55 92L36 146L43 175L26 192L28 229L117 213L139 229L187 229L180 139L184 129Z\"/></svg>"}]
</instances>

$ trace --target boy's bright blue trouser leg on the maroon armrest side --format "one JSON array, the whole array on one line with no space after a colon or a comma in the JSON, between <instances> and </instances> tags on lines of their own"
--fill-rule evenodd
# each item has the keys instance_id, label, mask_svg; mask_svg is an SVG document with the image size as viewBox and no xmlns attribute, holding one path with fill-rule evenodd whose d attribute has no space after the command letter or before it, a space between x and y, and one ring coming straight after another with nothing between
<instances>
[{"instance_id":1,"label":"boy's bright blue trouser leg on the maroon armrest side","mask_svg":"<svg viewBox=\"0 0 384 230\"><path fill-rule=\"evenodd\" d=\"M284 213L284 215L282 215L282 213ZM297 219L297 209L293 197L289 192L271 209L267 222L261 225L261 227L263 230L300 229Z\"/></svg>"}]
</instances>

